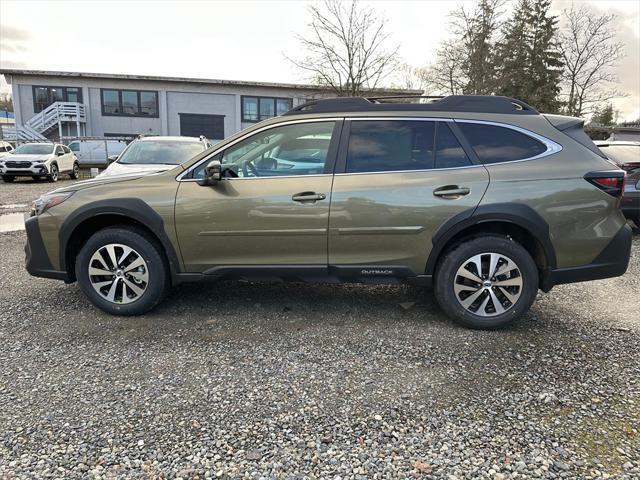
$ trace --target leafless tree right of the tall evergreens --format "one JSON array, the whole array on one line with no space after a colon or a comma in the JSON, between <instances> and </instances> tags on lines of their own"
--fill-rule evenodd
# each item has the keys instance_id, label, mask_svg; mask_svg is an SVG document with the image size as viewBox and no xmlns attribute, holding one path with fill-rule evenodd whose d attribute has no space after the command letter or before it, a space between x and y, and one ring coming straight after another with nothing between
<instances>
[{"instance_id":1,"label":"leafless tree right of the tall evergreens","mask_svg":"<svg viewBox=\"0 0 640 480\"><path fill-rule=\"evenodd\" d=\"M597 15L584 6L563 14L566 25L559 46L565 64L565 109L580 117L595 105L624 96L613 88L618 81L613 68L624 57L624 44L616 41L615 15Z\"/></svg>"}]
</instances>

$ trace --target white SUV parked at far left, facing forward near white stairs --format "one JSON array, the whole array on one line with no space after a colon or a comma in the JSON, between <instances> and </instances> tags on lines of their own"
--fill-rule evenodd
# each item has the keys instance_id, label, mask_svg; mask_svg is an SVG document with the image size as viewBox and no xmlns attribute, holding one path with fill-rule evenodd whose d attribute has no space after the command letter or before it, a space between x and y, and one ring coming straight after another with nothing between
<instances>
[{"instance_id":1,"label":"white SUV parked at far left, facing forward near white stairs","mask_svg":"<svg viewBox=\"0 0 640 480\"><path fill-rule=\"evenodd\" d=\"M61 173L76 179L80 167L71 150L59 143L25 143L13 155L0 158L0 175L5 182L13 182L16 177L44 177L57 182Z\"/></svg>"}]
</instances>

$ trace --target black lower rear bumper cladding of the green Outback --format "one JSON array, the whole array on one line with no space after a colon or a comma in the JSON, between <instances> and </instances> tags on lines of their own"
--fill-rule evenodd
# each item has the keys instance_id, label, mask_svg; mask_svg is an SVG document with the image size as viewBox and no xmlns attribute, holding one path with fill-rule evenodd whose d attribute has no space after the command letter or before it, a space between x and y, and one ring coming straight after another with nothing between
<instances>
[{"instance_id":1,"label":"black lower rear bumper cladding of the green Outback","mask_svg":"<svg viewBox=\"0 0 640 480\"><path fill-rule=\"evenodd\" d=\"M629 266L631 241L631 227L624 225L592 263L579 267L550 270L542 279L540 288L548 292L554 285L623 275Z\"/></svg>"}]
</instances>

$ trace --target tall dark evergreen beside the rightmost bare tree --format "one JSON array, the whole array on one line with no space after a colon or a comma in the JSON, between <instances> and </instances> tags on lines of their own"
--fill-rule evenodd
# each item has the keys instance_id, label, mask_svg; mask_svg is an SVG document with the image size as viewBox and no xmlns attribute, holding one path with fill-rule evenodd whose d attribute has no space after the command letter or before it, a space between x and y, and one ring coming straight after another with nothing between
<instances>
[{"instance_id":1,"label":"tall dark evergreen beside the rightmost bare tree","mask_svg":"<svg viewBox=\"0 0 640 480\"><path fill-rule=\"evenodd\" d=\"M558 19L551 0L520 0L497 46L497 92L543 112L560 109L562 60L556 44Z\"/></svg>"}]
</instances>

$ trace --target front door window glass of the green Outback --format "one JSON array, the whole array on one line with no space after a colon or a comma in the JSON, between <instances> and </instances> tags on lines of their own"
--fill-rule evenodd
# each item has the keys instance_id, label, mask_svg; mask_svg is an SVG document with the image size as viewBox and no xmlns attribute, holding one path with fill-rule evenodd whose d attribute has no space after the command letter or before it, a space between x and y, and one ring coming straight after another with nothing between
<instances>
[{"instance_id":1,"label":"front door window glass of the green Outback","mask_svg":"<svg viewBox=\"0 0 640 480\"><path fill-rule=\"evenodd\" d=\"M227 178L318 175L324 166L335 122L298 123L274 127L216 155ZM203 162L194 178L203 178Z\"/></svg>"}]
</instances>

